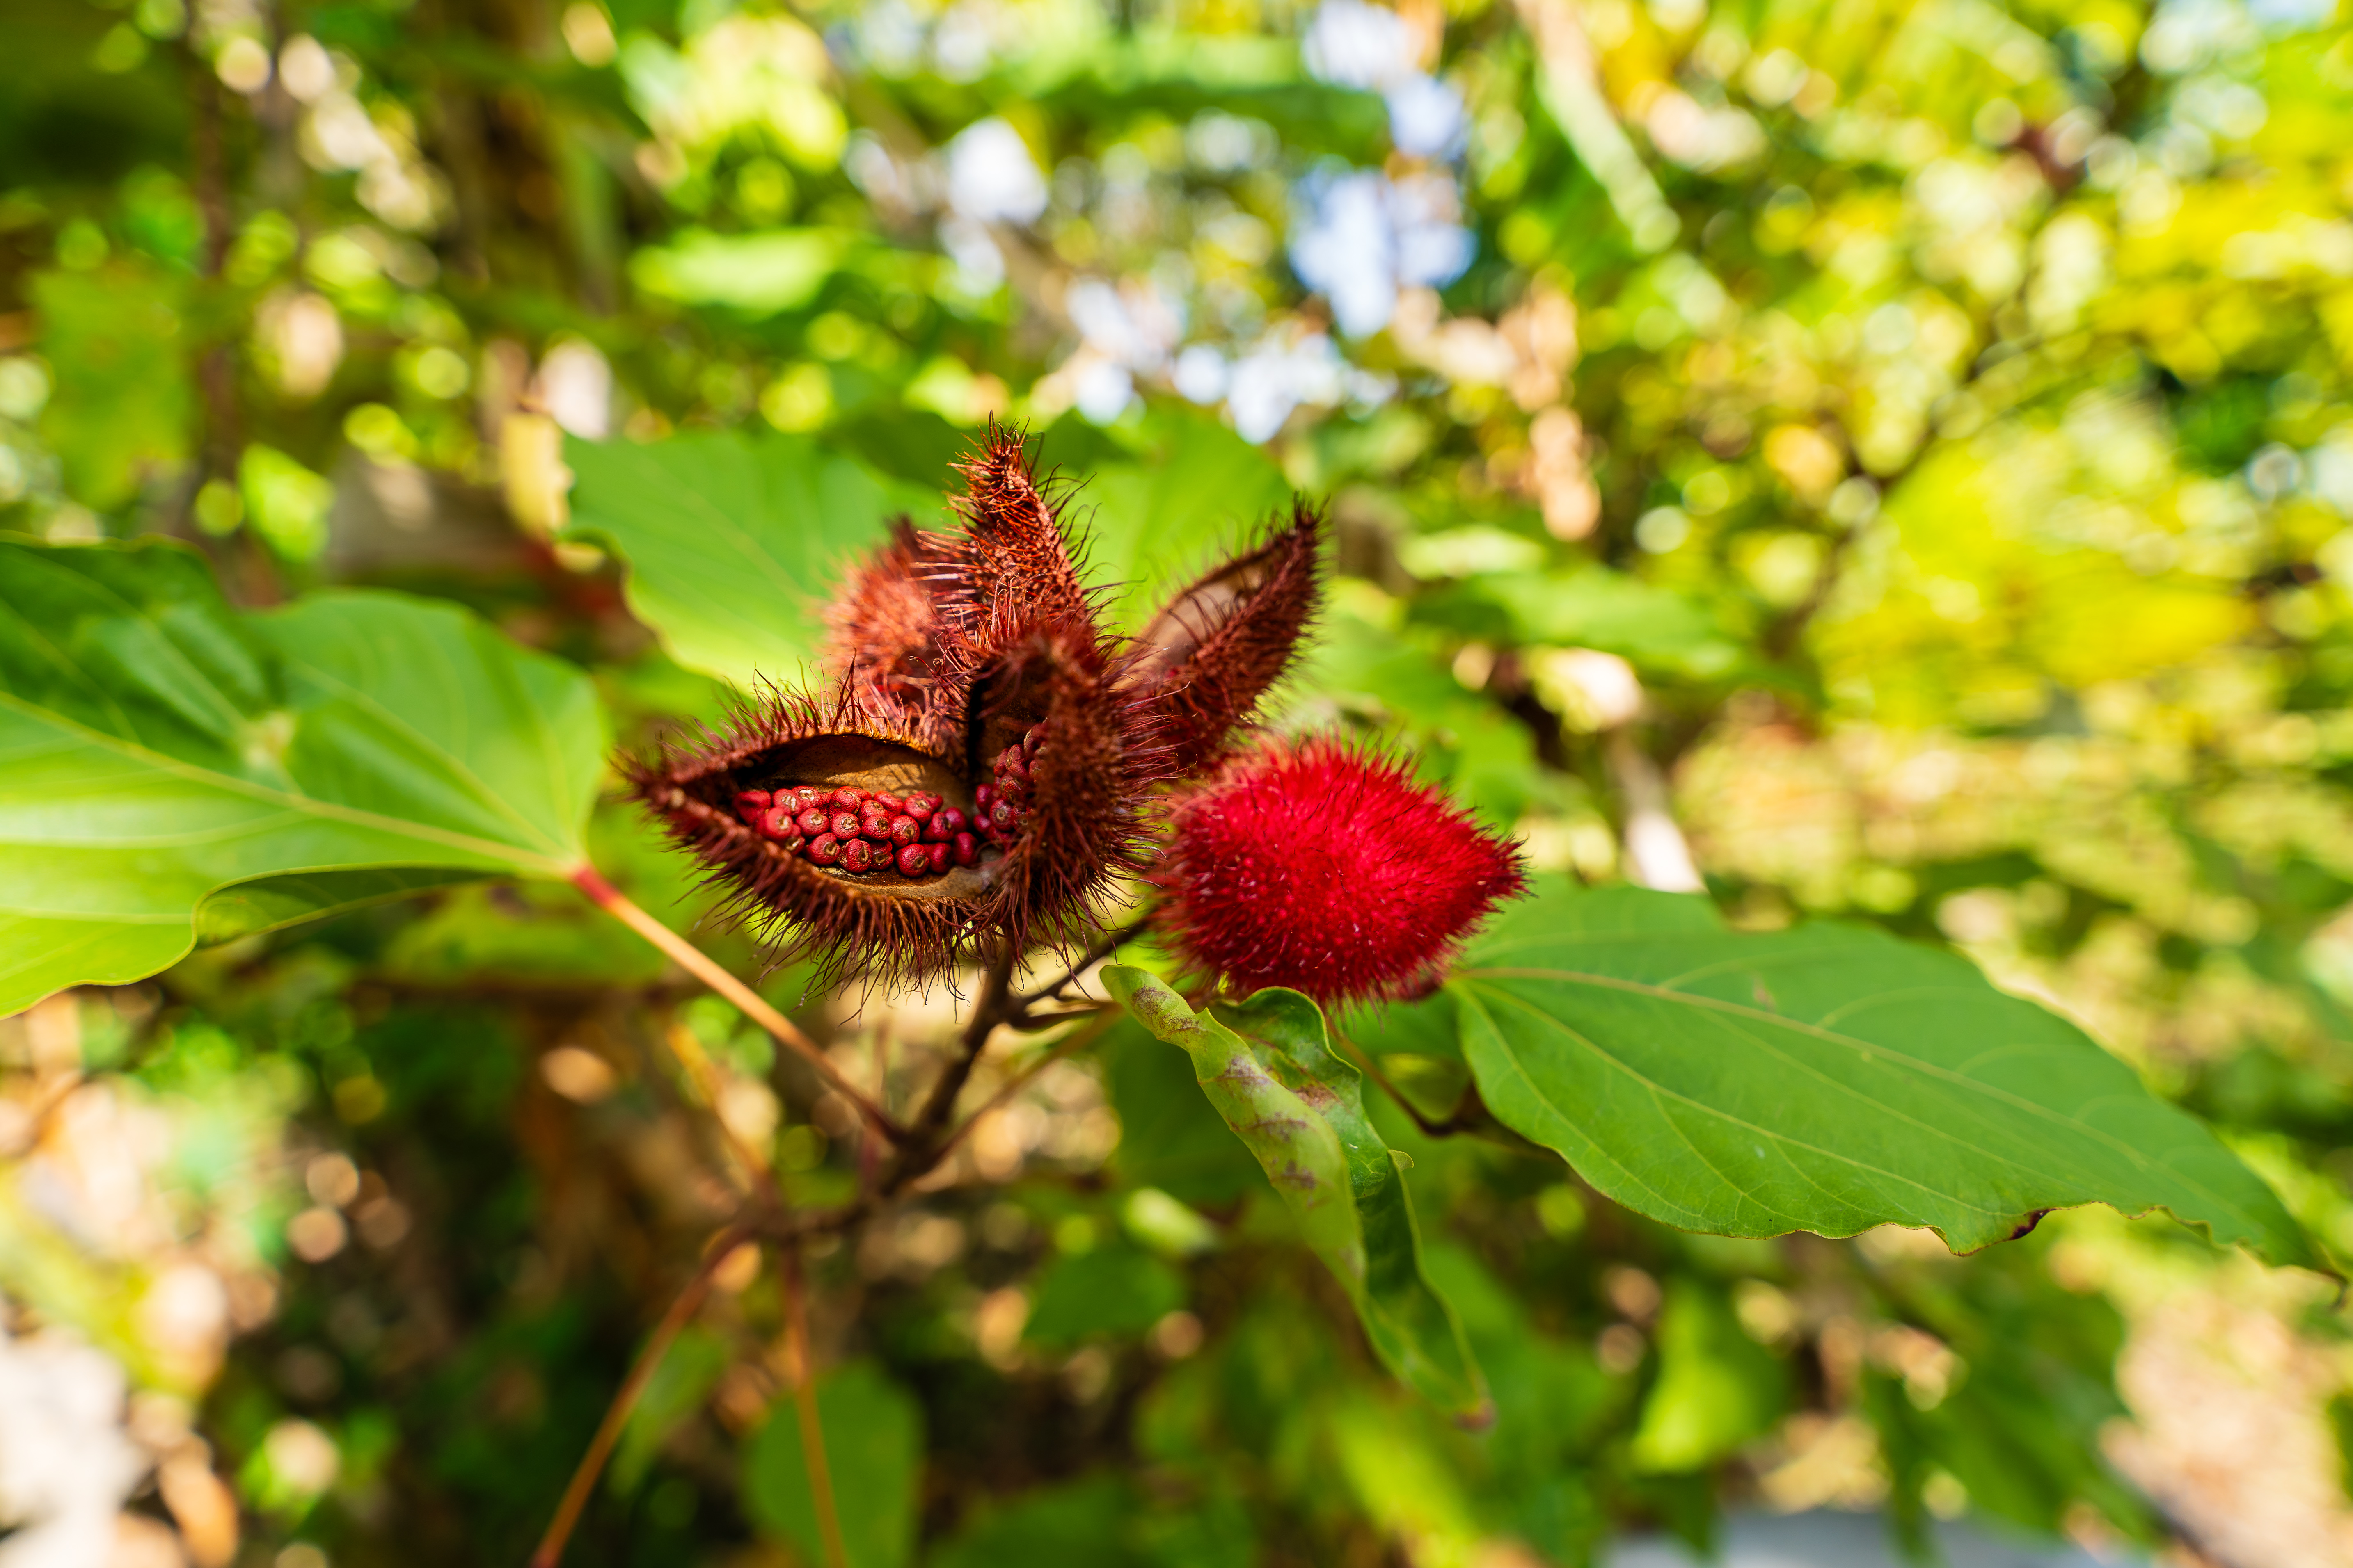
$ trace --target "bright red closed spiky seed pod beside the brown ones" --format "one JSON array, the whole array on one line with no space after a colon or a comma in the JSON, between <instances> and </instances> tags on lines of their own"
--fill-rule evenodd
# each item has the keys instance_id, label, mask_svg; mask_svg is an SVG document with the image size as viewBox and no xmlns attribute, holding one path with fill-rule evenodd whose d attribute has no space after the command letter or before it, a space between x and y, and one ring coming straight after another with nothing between
<instances>
[{"instance_id":1,"label":"bright red closed spiky seed pod beside the brown ones","mask_svg":"<svg viewBox=\"0 0 2353 1568\"><path fill-rule=\"evenodd\" d=\"M1464 936L1527 886L1518 851L1440 790L1339 741L1261 745L1186 792L1160 929L1240 992L1428 994Z\"/></svg>"}]
</instances>

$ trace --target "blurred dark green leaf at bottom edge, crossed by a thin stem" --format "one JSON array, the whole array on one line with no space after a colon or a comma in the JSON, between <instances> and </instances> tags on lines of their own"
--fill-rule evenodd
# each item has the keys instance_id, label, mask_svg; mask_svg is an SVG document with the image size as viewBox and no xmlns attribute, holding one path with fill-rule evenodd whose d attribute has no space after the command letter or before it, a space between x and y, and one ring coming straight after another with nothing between
<instances>
[{"instance_id":1,"label":"blurred dark green leaf at bottom edge, crossed by a thin stem","mask_svg":"<svg viewBox=\"0 0 2353 1568\"><path fill-rule=\"evenodd\" d=\"M878 1366L852 1361L819 1380L816 1418L849 1568L901 1568L915 1552L922 1406ZM826 1561L791 1396L776 1401L744 1453L744 1512L802 1561Z\"/></svg>"}]
</instances>

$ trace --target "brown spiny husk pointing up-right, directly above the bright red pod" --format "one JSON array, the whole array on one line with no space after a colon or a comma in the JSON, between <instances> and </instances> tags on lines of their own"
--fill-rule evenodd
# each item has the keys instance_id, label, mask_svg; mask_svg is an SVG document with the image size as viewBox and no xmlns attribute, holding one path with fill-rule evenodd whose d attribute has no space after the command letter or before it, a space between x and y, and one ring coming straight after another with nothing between
<instances>
[{"instance_id":1,"label":"brown spiny husk pointing up-right, directly above the bright red pod","mask_svg":"<svg viewBox=\"0 0 2353 1568\"><path fill-rule=\"evenodd\" d=\"M1125 684L1151 703L1155 741L1176 773L1217 762L1231 731L1292 668L1322 602L1322 520L1304 501L1289 527L1198 578L1136 637Z\"/></svg>"}]
</instances>

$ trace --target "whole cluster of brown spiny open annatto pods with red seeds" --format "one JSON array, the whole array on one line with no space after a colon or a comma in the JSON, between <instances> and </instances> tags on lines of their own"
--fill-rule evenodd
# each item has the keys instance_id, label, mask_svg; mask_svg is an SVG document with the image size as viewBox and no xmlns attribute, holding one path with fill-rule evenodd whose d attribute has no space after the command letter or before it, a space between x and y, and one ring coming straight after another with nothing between
<instances>
[{"instance_id":1,"label":"whole cluster of brown spiny open annatto pods with red seeds","mask_svg":"<svg viewBox=\"0 0 2353 1568\"><path fill-rule=\"evenodd\" d=\"M1151 863L1162 785L1207 766L1318 602L1318 522L1186 588L1122 644L1019 435L958 465L960 534L904 520L828 611L826 696L624 759L638 799L784 957L899 983L1071 943Z\"/></svg>"}]
</instances>

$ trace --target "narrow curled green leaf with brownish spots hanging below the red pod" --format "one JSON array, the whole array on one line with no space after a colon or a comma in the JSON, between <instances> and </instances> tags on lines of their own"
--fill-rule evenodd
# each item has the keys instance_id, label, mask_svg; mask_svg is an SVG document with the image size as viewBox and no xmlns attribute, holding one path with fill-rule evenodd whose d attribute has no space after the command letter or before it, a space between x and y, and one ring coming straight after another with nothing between
<instances>
[{"instance_id":1,"label":"narrow curled green leaf with brownish spots hanging below the red pod","mask_svg":"<svg viewBox=\"0 0 2353 1568\"><path fill-rule=\"evenodd\" d=\"M1332 1267L1365 1338L1412 1389L1464 1422L1494 1406L1454 1309L1421 1269L1421 1234L1398 1157L1365 1119L1355 1067L1325 1037L1322 1011L1289 990L1195 1013L1141 969L1104 983L1146 1030L1193 1058L1193 1077Z\"/></svg>"}]
</instances>

